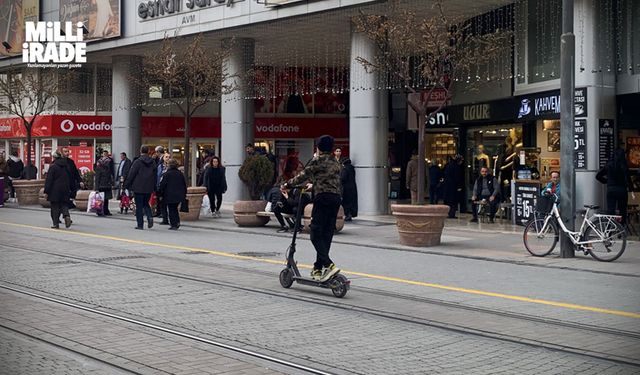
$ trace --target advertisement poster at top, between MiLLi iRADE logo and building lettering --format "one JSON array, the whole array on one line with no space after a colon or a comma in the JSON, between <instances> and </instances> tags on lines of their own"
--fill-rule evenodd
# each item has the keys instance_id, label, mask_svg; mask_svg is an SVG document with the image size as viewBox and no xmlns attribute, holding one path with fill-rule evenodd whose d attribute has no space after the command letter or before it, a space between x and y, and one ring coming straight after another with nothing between
<instances>
[{"instance_id":1,"label":"advertisement poster at top, between MiLLi iRADE logo and building lettering","mask_svg":"<svg viewBox=\"0 0 640 375\"><path fill-rule=\"evenodd\" d=\"M82 22L85 40L120 36L120 0L60 0L60 22Z\"/></svg>"}]
</instances>

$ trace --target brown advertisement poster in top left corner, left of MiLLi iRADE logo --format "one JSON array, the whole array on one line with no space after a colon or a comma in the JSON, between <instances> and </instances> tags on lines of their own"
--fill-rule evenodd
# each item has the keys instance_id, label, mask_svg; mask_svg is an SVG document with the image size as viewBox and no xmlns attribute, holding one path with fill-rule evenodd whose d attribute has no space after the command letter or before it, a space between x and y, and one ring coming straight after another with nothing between
<instances>
[{"instance_id":1,"label":"brown advertisement poster in top left corner, left of MiLLi iRADE logo","mask_svg":"<svg viewBox=\"0 0 640 375\"><path fill-rule=\"evenodd\" d=\"M39 0L0 1L0 58L22 55L24 24L27 21L38 22L39 17Z\"/></svg>"}]
</instances>

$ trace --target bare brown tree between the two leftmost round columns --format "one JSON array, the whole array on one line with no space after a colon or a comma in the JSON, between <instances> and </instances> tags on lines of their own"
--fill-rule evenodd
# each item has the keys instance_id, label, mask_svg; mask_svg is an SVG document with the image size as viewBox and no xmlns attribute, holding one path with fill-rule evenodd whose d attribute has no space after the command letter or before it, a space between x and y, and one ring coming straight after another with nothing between
<instances>
[{"instance_id":1,"label":"bare brown tree between the two leftmost round columns","mask_svg":"<svg viewBox=\"0 0 640 375\"><path fill-rule=\"evenodd\" d=\"M165 37L157 53L148 55L140 77L134 80L143 91L155 93L174 104L184 117L184 172L190 182L191 119L207 103L219 101L222 94L233 90L225 85L228 74L223 62L230 47L210 48L202 35L191 40L184 37ZM143 104L149 103L149 97Z\"/></svg>"}]
</instances>

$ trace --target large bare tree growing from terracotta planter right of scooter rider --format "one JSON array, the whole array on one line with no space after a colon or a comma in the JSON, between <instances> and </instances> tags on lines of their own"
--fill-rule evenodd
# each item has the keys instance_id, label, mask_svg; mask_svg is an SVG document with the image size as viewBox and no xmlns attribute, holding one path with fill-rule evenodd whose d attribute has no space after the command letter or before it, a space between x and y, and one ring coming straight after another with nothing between
<instances>
[{"instance_id":1,"label":"large bare tree growing from terracotta planter right of scooter rider","mask_svg":"<svg viewBox=\"0 0 640 375\"><path fill-rule=\"evenodd\" d=\"M447 12L444 0L436 0L427 17L402 9L398 2L383 15L361 13L353 22L375 45L372 59L357 57L368 72L399 83L410 93L408 105L418 114L418 160L424 162L425 124L443 109L452 96L452 82L473 88L477 74L511 48L510 30L478 30L469 16ZM433 106L434 92L445 93L445 100ZM418 204L424 204L424 168L418 168Z\"/></svg>"}]
</instances>

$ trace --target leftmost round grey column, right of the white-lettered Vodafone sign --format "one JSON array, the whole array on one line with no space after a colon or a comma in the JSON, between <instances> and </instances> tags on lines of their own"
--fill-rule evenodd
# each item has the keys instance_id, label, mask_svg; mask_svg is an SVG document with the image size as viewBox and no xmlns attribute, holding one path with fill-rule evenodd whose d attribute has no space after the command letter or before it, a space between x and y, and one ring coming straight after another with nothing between
<instances>
[{"instance_id":1,"label":"leftmost round grey column, right of the white-lettered Vodafone sign","mask_svg":"<svg viewBox=\"0 0 640 375\"><path fill-rule=\"evenodd\" d=\"M140 74L142 59L140 56L113 56L112 62L111 152L116 163L120 163L121 152L126 152L129 159L140 153L140 90L132 77Z\"/></svg>"}]
</instances>

